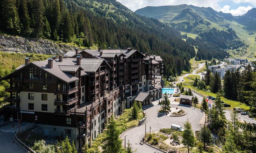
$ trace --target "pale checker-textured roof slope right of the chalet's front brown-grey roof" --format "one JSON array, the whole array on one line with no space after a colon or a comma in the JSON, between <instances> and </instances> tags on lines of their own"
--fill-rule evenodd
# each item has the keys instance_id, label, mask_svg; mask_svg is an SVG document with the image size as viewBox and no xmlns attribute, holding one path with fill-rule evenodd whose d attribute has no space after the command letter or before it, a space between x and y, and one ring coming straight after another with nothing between
<instances>
[{"instance_id":1,"label":"pale checker-textured roof slope right of the chalet's front brown-grey roof","mask_svg":"<svg viewBox=\"0 0 256 153\"><path fill-rule=\"evenodd\" d=\"M83 58L80 65L84 72L96 72L103 61L102 58Z\"/></svg>"}]
</instances>

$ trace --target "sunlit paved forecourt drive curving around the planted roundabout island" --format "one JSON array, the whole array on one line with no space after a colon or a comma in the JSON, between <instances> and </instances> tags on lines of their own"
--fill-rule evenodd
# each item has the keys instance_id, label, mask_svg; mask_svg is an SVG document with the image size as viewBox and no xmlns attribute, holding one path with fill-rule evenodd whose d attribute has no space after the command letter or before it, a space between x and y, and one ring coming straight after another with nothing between
<instances>
[{"instance_id":1,"label":"sunlit paved forecourt drive curving around the planted roundabout island","mask_svg":"<svg viewBox=\"0 0 256 153\"><path fill-rule=\"evenodd\" d=\"M158 100L157 100L158 101ZM157 105L155 102L152 105L145 106L145 112L147 113L148 120L146 122L146 132L149 133L149 127L151 126L152 131L158 131L160 128L170 128L172 124L177 124L183 127L183 123L188 119L189 122L192 124L193 130L199 130L199 121L203 118L204 114L197 109L188 106L181 106L181 105L171 105L172 107L178 107L187 112L186 115L180 117L170 117L170 116L162 116L158 114L157 110L160 109L160 106ZM123 135L121 135L121 139L124 139L126 136L126 143L128 140L132 144L132 148L137 150L137 153L154 153L154 151L158 151L146 144L140 145L140 140L142 136L145 134L145 124L136 128L132 128ZM124 141L123 141L124 146Z\"/></svg>"}]
</instances>

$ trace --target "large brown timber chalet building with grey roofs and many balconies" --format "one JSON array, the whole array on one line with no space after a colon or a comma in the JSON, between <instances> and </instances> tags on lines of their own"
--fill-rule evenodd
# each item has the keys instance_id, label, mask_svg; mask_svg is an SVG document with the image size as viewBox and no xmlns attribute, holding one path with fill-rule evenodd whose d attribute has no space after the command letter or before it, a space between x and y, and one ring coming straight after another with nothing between
<instances>
[{"instance_id":1,"label":"large brown timber chalet building with grey roofs and many balconies","mask_svg":"<svg viewBox=\"0 0 256 153\"><path fill-rule=\"evenodd\" d=\"M75 49L38 62L26 58L1 78L10 83L5 120L35 122L44 135L68 136L77 149L91 146L108 118L130 108L140 92L140 99L149 98L143 106L162 98L163 66L160 56L132 48Z\"/></svg>"}]
</instances>

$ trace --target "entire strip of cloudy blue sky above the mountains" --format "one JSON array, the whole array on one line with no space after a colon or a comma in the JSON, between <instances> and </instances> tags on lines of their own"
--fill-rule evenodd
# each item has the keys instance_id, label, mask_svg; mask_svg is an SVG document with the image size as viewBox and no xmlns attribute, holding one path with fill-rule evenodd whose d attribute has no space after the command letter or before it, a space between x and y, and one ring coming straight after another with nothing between
<instances>
[{"instance_id":1,"label":"entire strip of cloudy blue sky above the mountains","mask_svg":"<svg viewBox=\"0 0 256 153\"><path fill-rule=\"evenodd\" d=\"M132 11L146 6L191 4L199 7L212 7L216 11L243 15L256 8L256 0L117 0Z\"/></svg>"}]
</instances>

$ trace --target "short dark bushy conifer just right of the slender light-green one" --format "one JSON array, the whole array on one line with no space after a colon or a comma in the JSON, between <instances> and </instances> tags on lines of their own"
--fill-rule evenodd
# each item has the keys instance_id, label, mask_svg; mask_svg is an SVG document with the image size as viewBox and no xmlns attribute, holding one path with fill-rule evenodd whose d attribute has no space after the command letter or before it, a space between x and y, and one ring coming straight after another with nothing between
<instances>
[{"instance_id":1,"label":"short dark bushy conifer just right of the slender light-green one","mask_svg":"<svg viewBox=\"0 0 256 153\"><path fill-rule=\"evenodd\" d=\"M204 144L204 150L206 146L213 143L211 131L205 125L200 129L197 139Z\"/></svg>"}]
</instances>

